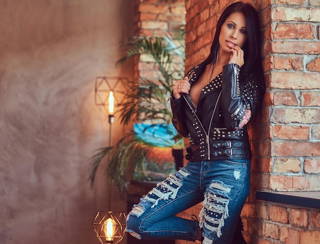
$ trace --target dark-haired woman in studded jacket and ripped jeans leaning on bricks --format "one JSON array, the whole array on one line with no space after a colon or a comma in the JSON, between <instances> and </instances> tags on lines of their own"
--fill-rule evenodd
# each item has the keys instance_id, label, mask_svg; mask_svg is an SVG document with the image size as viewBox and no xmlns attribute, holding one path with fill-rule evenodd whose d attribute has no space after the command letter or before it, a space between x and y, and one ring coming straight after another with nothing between
<instances>
[{"instance_id":1,"label":"dark-haired woman in studded jacket and ripped jeans leaning on bricks","mask_svg":"<svg viewBox=\"0 0 320 244\"><path fill-rule=\"evenodd\" d=\"M133 206L127 217L131 235L232 242L249 193L246 126L263 96L259 35L251 5L228 6L217 22L208 58L173 85L172 121L189 138L188 163ZM202 201L199 222L174 216Z\"/></svg>"}]
</instances>

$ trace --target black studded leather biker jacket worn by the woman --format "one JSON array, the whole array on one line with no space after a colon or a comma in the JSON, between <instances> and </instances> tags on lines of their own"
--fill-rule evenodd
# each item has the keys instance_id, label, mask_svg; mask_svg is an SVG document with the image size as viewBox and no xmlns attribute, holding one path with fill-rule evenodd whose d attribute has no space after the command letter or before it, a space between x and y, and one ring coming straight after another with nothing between
<instances>
[{"instance_id":1,"label":"black studded leather biker jacket worn by the woman","mask_svg":"<svg viewBox=\"0 0 320 244\"><path fill-rule=\"evenodd\" d=\"M239 71L237 64L223 66L222 73L203 87L197 106L189 94L179 99L171 95L173 125L189 139L187 160L251 158L246 124L259 92L250 76L239 82ZM200 75L199 66L189 71L191 86Z\"/></svg>"}]
</instances>

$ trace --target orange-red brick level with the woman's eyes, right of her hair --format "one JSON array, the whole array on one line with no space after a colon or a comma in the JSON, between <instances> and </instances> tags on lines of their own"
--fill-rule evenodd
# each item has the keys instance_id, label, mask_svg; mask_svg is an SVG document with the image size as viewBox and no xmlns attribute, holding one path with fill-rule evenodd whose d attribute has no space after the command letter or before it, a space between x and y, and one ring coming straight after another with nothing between
<instances>
[{"instance_id":1,"label":"orange-red brick level with the woman's eyes, right of her hair","mask_svg":"<svg viewBox=\"0 0 320 244\"><path fill-rule=\"evenodd\" d=\"M314 26L307 23L279 23L274 39L314 39Z\"/></svg>"}]
</instances>

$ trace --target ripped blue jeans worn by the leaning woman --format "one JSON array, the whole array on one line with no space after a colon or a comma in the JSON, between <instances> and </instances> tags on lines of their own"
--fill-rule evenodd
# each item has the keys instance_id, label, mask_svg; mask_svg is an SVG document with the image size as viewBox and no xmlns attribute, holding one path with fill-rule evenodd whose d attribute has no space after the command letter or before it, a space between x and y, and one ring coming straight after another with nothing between
<instances>
[{"instance_id":1,"label":"ripped blue jeans worn by the leaning woman","mask_svg":"<svg viewBox=\"0 0 320 244\"><path fill-rule=\"evenodd\" d=\"M202 228L203 244L231 243L249 185L249 159L188 162L133 206L126 231L138 239L195 241ZM199 222L175 216L201 202Z\"/></svg>"}]
</instances>

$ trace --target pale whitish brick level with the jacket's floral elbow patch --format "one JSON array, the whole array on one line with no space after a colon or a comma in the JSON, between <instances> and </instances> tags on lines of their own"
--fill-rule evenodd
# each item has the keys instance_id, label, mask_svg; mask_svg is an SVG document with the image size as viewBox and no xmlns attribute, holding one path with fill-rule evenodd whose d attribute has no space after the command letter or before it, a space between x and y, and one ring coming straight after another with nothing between
<instances>
[{"instance_id":1,"label":"pale whitish brick level with the jacket's floral elbow patch","mask_svg":"<svg viewBox=\"0 0 320 244\"><path fill-rule=\"evenodd\" d=\"M318 109L275 108L270 116L270 121L284 124L318 124L320 123L320 113Z\"/></svg>"}]
</instances>

